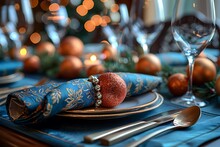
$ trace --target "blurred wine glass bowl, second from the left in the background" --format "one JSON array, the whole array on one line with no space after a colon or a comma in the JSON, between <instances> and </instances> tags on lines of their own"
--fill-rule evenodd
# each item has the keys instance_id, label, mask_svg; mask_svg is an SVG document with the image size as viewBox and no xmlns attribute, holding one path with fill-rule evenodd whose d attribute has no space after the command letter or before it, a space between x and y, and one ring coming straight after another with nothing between
<instances>
[{"instance_id":1,"label":"blurred wine glass bowl, second from the left in the background","mask_svg":"<svg viewBox=\"0 0 220 147\"><path fill-rule=\"evenodd\" d=\"M59 4L59 0L51 0L47 3L49 3L48 10L43 14L42 21L48 37L58 47L69 24L68 13L65 6Z\"/></svg>"}]
</instances>

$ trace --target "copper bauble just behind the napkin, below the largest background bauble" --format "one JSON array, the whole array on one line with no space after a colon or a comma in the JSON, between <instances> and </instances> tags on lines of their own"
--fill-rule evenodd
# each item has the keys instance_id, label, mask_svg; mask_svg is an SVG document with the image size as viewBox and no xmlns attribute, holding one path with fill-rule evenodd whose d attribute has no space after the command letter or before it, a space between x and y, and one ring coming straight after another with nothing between
<instances>
[{"instance_id":1,"label":"copper bauble just behind the napkin, below the largest background bauble","mask_svg":"<svg viewBox=\"0 0 220 147\"><path fill-rule=\"evenodd\" d=\"M65 79L77 78L83 68L83 63L78 57L68 56L59 66L59 76Z\"/></svg>"}]
</instances>

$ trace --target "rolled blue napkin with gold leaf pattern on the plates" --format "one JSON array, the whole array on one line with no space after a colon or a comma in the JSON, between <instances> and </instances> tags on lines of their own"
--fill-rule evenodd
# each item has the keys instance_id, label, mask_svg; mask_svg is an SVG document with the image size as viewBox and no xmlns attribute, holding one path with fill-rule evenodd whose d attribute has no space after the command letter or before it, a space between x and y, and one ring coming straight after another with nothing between
<instances>
[{"instance_id":1,"label":"rolled blue napkin with gold leaf pattern on the plates","mask_svg":"<svg viewBox=\"0 0 220 147\"><path fill-rule=\"evenodd\" d=\"M162 82L161 77L116 73L126 83L127 97L151 91ZM87 78L64 83L47 83L8 95L6 109L10 119L17 124L33 124L69 109L93 106L95 90Z\"/></svg>"}]
</instances>

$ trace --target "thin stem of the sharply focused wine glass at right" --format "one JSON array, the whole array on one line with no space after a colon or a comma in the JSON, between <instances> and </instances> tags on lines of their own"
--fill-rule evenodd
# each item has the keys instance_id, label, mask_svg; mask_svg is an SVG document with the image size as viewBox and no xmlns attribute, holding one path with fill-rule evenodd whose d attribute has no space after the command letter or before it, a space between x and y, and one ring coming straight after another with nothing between
<instances>
[{"instance_id":1,"label":"thin stem of the sharply focused wine glass at right","mask_svg":"<svg viewBox=\"0 0 220 147\"><path fill-rule=\"evenodd\" d=\"M188 95L193 95L193 89L192 89L192 82L193 82L193 69L194 69L194 57L189 56L187 57L188 64L189 64L189 82L188 82Z\"/></svg>"}]
</instances>

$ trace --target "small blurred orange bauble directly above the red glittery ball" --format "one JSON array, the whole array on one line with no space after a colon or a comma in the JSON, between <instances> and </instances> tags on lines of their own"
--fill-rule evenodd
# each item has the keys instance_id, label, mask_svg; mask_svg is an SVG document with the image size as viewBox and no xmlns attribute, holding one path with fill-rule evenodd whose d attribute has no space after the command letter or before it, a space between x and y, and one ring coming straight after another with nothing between
<instances>
[{"instance_id":1,"label":"small blurred orange bauble directly above the red glittery ball","mask_svg":"<svg viewBox=\"0 0 220 147\"><path fill-rule=\"evenodd\" d=\"M117 57L117 50L111 45L104 45L102 54L105 60L114 60Z\"/></svg>"}]
</instances>

